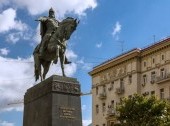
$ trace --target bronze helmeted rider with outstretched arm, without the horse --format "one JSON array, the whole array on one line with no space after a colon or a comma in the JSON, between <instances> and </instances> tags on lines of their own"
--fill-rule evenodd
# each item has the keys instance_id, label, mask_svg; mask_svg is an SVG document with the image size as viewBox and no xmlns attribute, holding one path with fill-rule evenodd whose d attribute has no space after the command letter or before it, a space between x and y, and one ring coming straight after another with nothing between
<instances>
[{"instance_id":1,"label":"bronze helmeted rider with outstretched arm, without the horse","mask_svg":"<svg viewBox=\"0 0 170 126\"><path fill-rule=\"evenodd\" d=\"M47 45L47 42L50 40L51 35L57 30L59 27L59 21L55 19L55 12L51 8L49 10L49 16L48 17L40 17L38 20L41 22L41 27L40 27L40 35L41 35L41 44L39 48L39 53L40 56L43 56L45 47ZM57 51L58 52L58 51ZM57 63L59 54L56 54L56 59L53 61L54 63ZM65 64L70 64L65 57Z\"/></svg>"}]
</instances>

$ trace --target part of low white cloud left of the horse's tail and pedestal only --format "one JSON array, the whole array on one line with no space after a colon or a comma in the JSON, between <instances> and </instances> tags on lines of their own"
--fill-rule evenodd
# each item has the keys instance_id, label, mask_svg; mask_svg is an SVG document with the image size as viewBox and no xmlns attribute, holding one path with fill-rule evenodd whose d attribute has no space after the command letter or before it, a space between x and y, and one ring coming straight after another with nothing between
<instances>
[{"instance_id":1,"label":"part of low white cloud left of the horse's tail and pedestal only","mask_svg":"<svg viewBox=\"0 0 170 126\"><path fill-rule=\"evenodd\" d=\"M23 99L25 91L33 85L33 63L28 63L32 60L0 57L0 111L22 109L22 104L8 103Z\"/></svg>"}]
</instances>

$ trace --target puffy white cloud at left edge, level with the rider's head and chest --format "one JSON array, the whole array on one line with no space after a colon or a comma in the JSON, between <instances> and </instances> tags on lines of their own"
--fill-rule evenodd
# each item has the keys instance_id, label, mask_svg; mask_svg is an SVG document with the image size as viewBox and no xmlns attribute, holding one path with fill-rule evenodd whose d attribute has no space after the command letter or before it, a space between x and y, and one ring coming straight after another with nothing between
<instances>
[{"instance_id":1,"label":"puffy white cloud at left edge, level with the rider's head and chest","mask_svg":"<svg viewBox=\"0 0 170 126\"><path fill-rule=\"evenodd\" d=\"M24 31L27 29L27 25L16 20L16 10L9 8L0 14L0 32L7 32L12 29Z\"/></svg>"}]
</instances>

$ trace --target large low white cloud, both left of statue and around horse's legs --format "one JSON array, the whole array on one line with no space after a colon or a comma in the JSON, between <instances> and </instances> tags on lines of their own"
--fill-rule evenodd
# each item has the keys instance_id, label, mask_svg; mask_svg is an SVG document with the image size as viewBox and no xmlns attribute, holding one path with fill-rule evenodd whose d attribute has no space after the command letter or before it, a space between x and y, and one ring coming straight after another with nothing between
<instances>
[{"instance_id":1,"label":"large low white cloud, both left of statue and around horse's legs","mask_svg":"<svg viewBox=\"0 0 170 126\"><path fill-rule=\"evenodd\" d=\"M75 74L77 70L77 55L68 50L66 55L73 61L65 65L65 73L68 77ZM23 110L23 104L11 104L22 100L26 90L35 84L33 57L27 59L12 59L0 56L0 111ZM57 74L61 75L60 64L51 65L47 77Z\"/></svg>"}]
</instances>

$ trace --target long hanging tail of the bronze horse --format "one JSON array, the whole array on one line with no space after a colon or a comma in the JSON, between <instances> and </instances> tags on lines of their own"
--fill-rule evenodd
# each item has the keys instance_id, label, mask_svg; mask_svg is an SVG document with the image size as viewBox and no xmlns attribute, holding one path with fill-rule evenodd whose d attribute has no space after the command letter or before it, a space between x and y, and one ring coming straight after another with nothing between
<instances>
[{"instance_id":1,"label":"long hanging tail of the bronze horse","mask_svg":"<svg viewBox=\"0 0 170 126\"><path fill-rule=\"evenodd\" d=\"M39 79L39 76L41 77L41 64L37 53L34 53L34 76L35 81Z\"/></svg>"}]
</instances>

